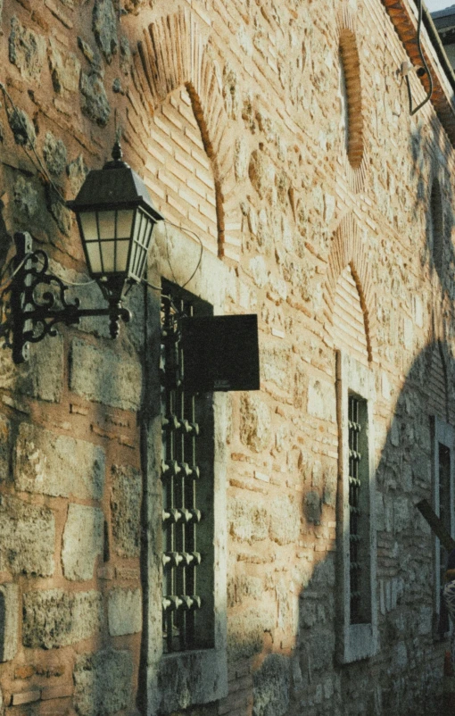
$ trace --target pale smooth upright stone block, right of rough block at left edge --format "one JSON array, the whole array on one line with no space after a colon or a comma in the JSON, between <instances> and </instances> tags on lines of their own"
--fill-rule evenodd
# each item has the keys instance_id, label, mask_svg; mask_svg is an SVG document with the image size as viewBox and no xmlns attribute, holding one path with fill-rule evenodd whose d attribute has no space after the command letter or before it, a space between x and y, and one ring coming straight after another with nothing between
<instances>
[{"instance_id":1,"label":"pale smooth upright stone block, right of rough block at left edge","mask_svg":"<svg viewBox=\"0 0 455 716\"><path fill-rule=\"evenodd\" d=\"M93 578L96 557L103 554L103 525L103 510L70 504L62 548L66 579Z\"/></svg>"}]
</instances>

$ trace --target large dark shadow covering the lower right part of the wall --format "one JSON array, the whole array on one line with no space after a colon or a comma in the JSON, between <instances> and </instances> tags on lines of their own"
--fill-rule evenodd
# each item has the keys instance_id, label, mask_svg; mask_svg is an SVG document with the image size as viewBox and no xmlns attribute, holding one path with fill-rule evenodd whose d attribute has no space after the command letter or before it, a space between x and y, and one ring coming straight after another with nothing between
<instances>
[{"instance_id":1,"label":"large dark shadow covering the lower right part of the wall","mask_svg":"<svg viewBox=\"0 0 455 716\"><path fill-rule=\"evenodd\" d=\"M253 674L253 716L295 716L307 711L311 716L435 716L441 712L443 651L434 645L434 539L415 504L423 498L433 502L430 416L437 414L454 425L451 235L455 220L451 178L443 159L451 147L436 121L425 131L419 126L409 143L417 231L419 212L425 212L426 219L425 237L414 242L423 246L418 280L427 284L429 271L434 295L428 295L427 305L421 307L421 322L414 317L420 326L431 325L427 345L407 370L400 393L393 395L392 389L390 395L383 395L394 410L376 469L379 651L368 660L337 665L335 600L340 590L335 555L328 556L314 566L302 588L293 654L266 655ZM428 155L434 157L429 181ZM440 193L439 208L434 186ZM439 216L434 215L437 212ZM438 241L442 255L437 253ZM393 280L397 266L392 262L389 271ZM408 271L401 267L397 298L403 304L413 297ZM426 321L428 314L430 321ZM402 333L401 326L401 345L393 346L397 365L406 356ZM412 337L409 350L415 351L415 346Z\"/></svg>"}]
</instances>

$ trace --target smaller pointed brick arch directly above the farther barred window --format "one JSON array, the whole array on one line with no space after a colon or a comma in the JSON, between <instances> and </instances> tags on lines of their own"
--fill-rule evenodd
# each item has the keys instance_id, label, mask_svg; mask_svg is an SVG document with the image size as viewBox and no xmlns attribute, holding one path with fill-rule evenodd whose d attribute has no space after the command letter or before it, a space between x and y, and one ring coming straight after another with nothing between
<instances>
[{"instance_id":1,"label":"smaller pointed brick arch directly above the farther barred window","mask_svg":"<svg viewBox=\"0 0 455 716\"><path fill-rule=\"evenodd\" d=\"M346 266L351 268L359 292L367 337L368 362L371 362L376 347L375 293L368 267L368 255L360 240L357 221L352 214L347 214L335 230L328 257L327 279L323 294L328 329L333 326L336 282Z\"/></svg>"}]
</instances>

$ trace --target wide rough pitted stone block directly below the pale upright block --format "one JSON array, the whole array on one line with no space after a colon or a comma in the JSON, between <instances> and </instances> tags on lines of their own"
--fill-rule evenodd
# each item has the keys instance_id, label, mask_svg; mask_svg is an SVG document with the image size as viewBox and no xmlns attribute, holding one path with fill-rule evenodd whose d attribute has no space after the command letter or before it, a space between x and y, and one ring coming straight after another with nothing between
<instances>
[{"instance_id":1,"label":"wide rough pitted stone block directly below the pale upright block","mask_svg":"<svg viewBox=\"0 0 455 716\"><path fill-rule=\"evenodd\" d=\"M94 637L103 625L103 596L94 590L68 593L62 589L23 595L22 643L54 649Z\"/></svg>"}]
</instances>

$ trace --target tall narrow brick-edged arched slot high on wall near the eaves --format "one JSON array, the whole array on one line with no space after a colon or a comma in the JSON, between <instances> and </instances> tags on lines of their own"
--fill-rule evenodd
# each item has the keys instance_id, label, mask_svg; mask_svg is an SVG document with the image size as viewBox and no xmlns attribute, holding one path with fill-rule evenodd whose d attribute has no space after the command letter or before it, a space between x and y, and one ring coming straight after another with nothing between
<instances>
[{"instance_id":1,"label":"tall narrow brick-edged arched slot high on wall near the eaves","mask_svg":"<svg viewBox=\"0 0 455 716\"><path fill-rule=\"evenodd\" d=\"M352 190L363 190L367 176L360 55L356 38L356 18L350 5L340 5L336 16L338 46L343 62L348 101L349 146L342 158L343 171Z\"/></svg>"}]
</instances>

